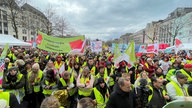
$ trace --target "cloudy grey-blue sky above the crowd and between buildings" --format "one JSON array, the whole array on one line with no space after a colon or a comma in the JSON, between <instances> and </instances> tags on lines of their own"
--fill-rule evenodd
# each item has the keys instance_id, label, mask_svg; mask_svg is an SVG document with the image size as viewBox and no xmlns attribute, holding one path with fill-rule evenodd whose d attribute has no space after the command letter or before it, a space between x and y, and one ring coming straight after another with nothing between
<instances>
[{"instance_id":1,"label":"cloudy grey-blue sky above the crowd and between buildings","mask_svg":"<svg viewBox=\"0 0 192 108\"><path fill-rule=\"evenodd\" d=\"M192 0L30 0L45 10L48 4L70 27L92 39L114 39L165 19L177 7L192 7Z\"/></svg>"}]
</instances>

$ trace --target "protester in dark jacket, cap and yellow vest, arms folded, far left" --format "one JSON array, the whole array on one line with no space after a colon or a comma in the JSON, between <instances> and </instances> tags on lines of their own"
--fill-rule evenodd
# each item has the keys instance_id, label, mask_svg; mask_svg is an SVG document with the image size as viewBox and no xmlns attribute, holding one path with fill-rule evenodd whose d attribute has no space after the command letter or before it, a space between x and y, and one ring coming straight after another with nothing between
<instances>
[{"instance_id":1,"label":"protester in dark jacket, cap and yellow vest, arms folded, far left","mask_svg":"<svg viewBox=\"0 0 192 108\"><path fill-rule=\"evenodd\" d=\"M21 73L18 72L17 67L12 67L8 70L8 74L3 77L2 88L5 91L16 95L19 102L25 96L25 79Z\"/></svg>"}]
</instances>

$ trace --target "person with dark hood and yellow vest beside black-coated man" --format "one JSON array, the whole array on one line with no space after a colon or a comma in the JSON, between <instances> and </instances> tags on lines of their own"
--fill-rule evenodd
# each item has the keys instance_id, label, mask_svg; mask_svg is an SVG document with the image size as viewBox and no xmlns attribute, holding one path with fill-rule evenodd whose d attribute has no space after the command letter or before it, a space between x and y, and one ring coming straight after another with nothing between
<instances>
[{"instance_id":1,"label":"person with dark hood and yellow vest beside black-coated man","mask_svg":"<svg viewBox=\"0 0 192 108\"><path fill-rule=\"evenodd\" d=\"M91 98L96 102L97 108L105 108L109 94L110 92L104 79L99 78L91 93Z\"/></svg>"}]
</instances>

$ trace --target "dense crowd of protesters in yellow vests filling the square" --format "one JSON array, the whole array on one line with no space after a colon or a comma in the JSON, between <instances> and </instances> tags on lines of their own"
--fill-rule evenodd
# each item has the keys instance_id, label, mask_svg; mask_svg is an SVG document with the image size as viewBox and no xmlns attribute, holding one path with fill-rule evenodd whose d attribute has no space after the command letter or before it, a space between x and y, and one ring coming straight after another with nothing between
<instances>
[{"instance_id":1,"label":"dense crowd of protesters in yellow vests filling the square","mask_svg":"<svg viewBox=\"0 0 192 108\"><path fill-rule=\"evenodd\" d=\"M192 52L114 65L109 51L51 53L12 48L0 99L10 108L162 108L192 95Z\"/></svg>"}]
</instances>

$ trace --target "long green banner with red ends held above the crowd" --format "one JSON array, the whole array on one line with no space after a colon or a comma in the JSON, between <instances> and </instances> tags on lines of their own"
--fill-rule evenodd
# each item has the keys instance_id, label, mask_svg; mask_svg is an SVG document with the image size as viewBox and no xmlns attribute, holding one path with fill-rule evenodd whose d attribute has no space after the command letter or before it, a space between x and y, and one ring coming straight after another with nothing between
<instances>
[{"instance_id":1,"label":"long green banner with red ends held above the crowd","mask_svg":"<svg viewBox=\"0 0 192 108\"><path fill-rule=\"evenodd\" d=\"M84 36L75 36L69 38L60 38L48 36L42 32L38 32L36 39L37 47L50 52L70 52L73 49L81 48Z\"/></svg>"}]
</instances>

